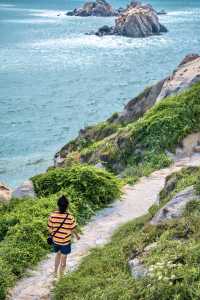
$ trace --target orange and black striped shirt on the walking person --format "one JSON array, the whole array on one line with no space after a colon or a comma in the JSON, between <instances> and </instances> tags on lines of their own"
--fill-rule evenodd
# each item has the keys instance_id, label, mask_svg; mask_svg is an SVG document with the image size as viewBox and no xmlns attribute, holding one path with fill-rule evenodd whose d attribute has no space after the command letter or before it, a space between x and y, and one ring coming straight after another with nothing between
<instances>
[{"instance_id":1,"label":"orange and black striped shirt on the walking person","mask_svg":"<svg viewBox=\"0 0 200 300\"><path fill-rule=\"evenodd\" d=\"M67 216L67 218L66 218ZM49 232L53 234L60 226L60 224L65 222L61 228L53 236L53 241L58 245L68 245L71 242L72 230L76 227L75 219L69 213L61 214L59 211L53 212L48 219Z\"/></svg>"}]
</instances>

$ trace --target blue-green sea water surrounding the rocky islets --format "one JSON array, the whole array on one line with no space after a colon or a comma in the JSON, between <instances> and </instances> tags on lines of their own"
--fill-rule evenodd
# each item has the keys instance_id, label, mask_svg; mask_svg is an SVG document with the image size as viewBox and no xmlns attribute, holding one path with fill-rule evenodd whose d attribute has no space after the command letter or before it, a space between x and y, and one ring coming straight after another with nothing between
<instances>
[{"instance_id":1,"label":"blue-green sea water surrounding the rocky islets","mask_svg":"<svg viewBox=\"0 0 200 300\"><path fill-rule=\"evenodd\" d=\"M169 32L131 39L85 35L114 19L64 15L83 1L0 0L0 181L14 187L43 172L80 128L200 53L199 0L148 2L168 11Z\"/></svg>"}]
</instances>

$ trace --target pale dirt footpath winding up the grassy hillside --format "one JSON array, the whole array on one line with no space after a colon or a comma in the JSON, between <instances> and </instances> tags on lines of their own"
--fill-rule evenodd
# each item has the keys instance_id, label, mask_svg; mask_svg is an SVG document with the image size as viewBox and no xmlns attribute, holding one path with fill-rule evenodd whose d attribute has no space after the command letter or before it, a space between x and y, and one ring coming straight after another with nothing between
<instances>
[{"instance_id":1,"label":"pale dirt footpath winding up the grassy hillside","mask_svg":"<svg viewBox=\"0 0 200 300\"><path fill-rule=\"evenodd\" d=\"M194 155L176 161L169 168L153 172L143 177L134 186L126 186L121 200L101 210L83 228L81 239L73 244L68 257L68 271L73 271L90 249L109 242L114 230L120 225L143 214L154 204L165 178L183 167L200 166L200 156ZM19 280L10 292L10 300L48 300L53 287L54 254L50 254L29 276Z\"/></svg>"}]
</instances>

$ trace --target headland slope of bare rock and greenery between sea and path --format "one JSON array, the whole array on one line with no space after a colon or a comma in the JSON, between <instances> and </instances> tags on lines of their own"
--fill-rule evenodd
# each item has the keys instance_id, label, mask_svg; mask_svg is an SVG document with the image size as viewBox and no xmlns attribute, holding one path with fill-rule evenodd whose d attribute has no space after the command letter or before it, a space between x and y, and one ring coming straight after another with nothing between
<instances>
[{"instance_id":1,"label":"headland slope of bare rock and greenery between sea and path","mask_svg":"<svg viewBox=\"0 0 200 300\"><path fill-rule=\"evenodd\" d=\"M173 75L145 89L122 113L81 130L56 154L55 166L101 162L117 173L127 167L152 171L166 166L166 150L173 151L199 130L199 81L200 57L189 55Z\"/></svg>"}]
</instances>

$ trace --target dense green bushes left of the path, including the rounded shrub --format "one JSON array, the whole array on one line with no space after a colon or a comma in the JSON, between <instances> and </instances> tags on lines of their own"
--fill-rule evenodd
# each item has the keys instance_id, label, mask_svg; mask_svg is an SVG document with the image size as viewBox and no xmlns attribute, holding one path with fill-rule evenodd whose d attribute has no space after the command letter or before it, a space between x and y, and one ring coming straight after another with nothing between
<instances>
[{"instance_id":1,"label":"dense green bushes left of the path, including the rounded shrub","mask_svg":"<svg viewBox=\"0 0 200 300\"><path fill-rule=\"evenodd\" d=\"M70 211L79 225L120 196L119 181L104 170L74 166L33 178L38 198L15 200L0 206L0 299L25 270L48 252L47 218L58 195L71 199Z\"/></svg>"}]
</instances>

